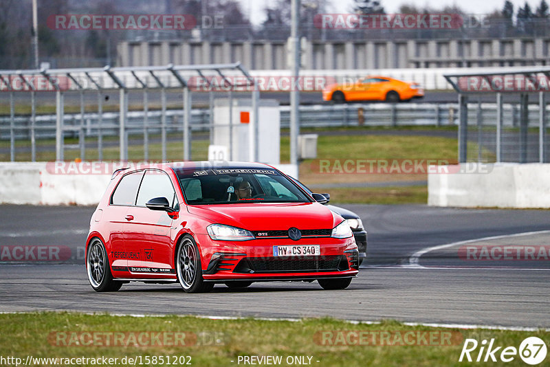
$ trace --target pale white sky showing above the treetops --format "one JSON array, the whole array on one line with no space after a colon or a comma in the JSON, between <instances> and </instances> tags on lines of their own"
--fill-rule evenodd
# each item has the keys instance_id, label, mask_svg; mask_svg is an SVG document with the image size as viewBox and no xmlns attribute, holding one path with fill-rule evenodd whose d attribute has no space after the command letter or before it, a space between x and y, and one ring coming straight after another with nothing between
<instances>
[{"instance_id":1,"label":"pale white sky showing above the treetops","mask_svg":"<svg viewBox=\"0 0 550 367\"><path fill-rule=\"evenodd\" d=\"M263 14L263 8L265 5L273 3L273 0L239 0L243 6L245 14L252 14L250 19L252 23L260 24L265 20L265 15ZM305 1L305 0L303 0ZM514 10L518 6L522 6L525 3L525 0L511 0L514 3ZM528 0L531 9L534 11L540 0ZM333 7L333 11L338 13L350 12L351 4L353 0L327 0L327 5ZM384 6L384 9L387 13L397 12L399 6L403 3L417 5L423 7L425 5L433 5L434 8L443 8L444 5L459 5L465 12L468 14L487 14L493 12L495 9L502 9L504 5L504 0L437 0L437 1L426 1L426 0L380 0L380 3Z\"/></svg>"}]
</instances>

